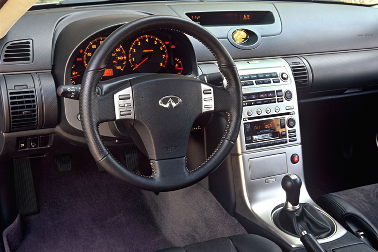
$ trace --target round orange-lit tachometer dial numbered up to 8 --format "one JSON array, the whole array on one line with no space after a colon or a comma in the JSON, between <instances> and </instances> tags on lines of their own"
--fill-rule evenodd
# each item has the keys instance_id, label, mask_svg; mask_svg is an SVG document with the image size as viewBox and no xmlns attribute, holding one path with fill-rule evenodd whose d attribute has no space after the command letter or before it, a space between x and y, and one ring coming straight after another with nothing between
<instances>
[{"instance_id":1,"label":"round orange-lit tachometer dial numbered up to 8","mask_svg":"<svg viewBox=\"0 0 378 252\"><path fill-rule=\"evenodd\" d=\"M129 50L132 70L140 73L157 73L167 66L168 51L164 43L152 35L134 40Z\"/></svg>"}]
</instances>

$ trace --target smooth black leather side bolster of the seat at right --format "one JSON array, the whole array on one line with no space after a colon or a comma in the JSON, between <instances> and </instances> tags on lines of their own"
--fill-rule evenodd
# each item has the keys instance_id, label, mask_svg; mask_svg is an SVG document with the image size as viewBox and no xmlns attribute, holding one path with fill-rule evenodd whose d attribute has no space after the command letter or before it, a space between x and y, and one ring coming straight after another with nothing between
<instances>
[{"instance_id":1,"label":"smooth black leather side bolster of the seat at right","mask_svg":"<svg viewBox=\"0 0 378 252\"><path fill-rule=\"evenodd\" d=\"M319 197L316 203L354 235L356 235L355 231L357 230L352 229L352 223L366 232L369 236L369 240L375 244L378 243L377 227L348 201L337 195L325 194Z\"/></svg>"}]
</instances>

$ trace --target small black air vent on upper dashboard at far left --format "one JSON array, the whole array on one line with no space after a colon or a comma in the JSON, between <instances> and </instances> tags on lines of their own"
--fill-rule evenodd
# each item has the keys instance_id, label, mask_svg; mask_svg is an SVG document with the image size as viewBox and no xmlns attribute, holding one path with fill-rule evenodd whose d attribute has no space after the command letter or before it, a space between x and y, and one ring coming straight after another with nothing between
<instances>
[{"instance_id":1,"label":"small black air vent on upper dashboard at far left","mask_svg":"<svg viewBox=\"0 0 378 252\"><path fill-rule=\"evenodd\" d=\"M31 39L11 41L1 51L1 65L26 64L33 62L33 41Z\"/></svg>"}]
</instances>

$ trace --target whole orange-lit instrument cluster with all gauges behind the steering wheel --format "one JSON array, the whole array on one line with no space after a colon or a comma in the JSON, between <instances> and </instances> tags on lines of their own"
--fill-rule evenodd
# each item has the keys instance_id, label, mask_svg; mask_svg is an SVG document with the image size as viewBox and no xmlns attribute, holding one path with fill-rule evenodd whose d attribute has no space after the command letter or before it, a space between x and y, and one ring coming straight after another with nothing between
<instances>
[{"instance_id":1,"label":"whole orange-lit instrument cluster with all gauges behind the steering wheel","mask_svg":"<svg viewBox=\"0 0 378 252\"><path fill-rule=\"evenodd\" d=\"M70 81L81 84L84 72L96 49L109 34L83 42L71 59ZM185 36L168 31L150 31L119 45L107 61L102 80L136 73L190 75L190 57Z\"/></svg>"}]
</instances>

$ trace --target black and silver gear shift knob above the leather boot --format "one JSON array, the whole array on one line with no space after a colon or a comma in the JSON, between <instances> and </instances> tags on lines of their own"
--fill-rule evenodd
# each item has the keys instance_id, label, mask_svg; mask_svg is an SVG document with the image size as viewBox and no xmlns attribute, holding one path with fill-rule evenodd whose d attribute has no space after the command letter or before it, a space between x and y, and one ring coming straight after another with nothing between
<instances>
[{"instance_id":1,"label":"black and silver gear shift knob above the leather boot","mask_svg":"<svg viewBox=\"0 0 378 252\"><path fill-rule=\"evenodd\" d=\"M302 186L300 177L294 173L287 174L283 177L281 185L286 192L284 208L291 211L299 208L299 194Z\"/></svg>"}]
</instances>

